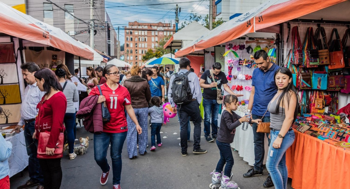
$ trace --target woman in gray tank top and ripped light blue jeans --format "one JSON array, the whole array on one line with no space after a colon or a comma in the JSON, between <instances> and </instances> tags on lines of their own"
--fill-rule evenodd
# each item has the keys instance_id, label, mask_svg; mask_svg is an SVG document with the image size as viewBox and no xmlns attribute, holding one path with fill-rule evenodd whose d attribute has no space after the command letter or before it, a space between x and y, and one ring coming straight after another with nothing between
<instances>
[{"instance_id":1,"label":"woman in gray tank top and ripped light blue jeans","mask_svg":"<svg viewBox=\"0 0 350 189\"><path fill-rule=\"evenodd\" d=\"M271 119L271 145L267 153L266 168L275 188L286 189L288 170L285 153L295 139L291 126L297 115L298 99L292 72L289 69L279 68L274 78L278 92L268 105Z\"/></svg>"}]
</instances>

